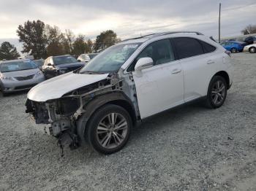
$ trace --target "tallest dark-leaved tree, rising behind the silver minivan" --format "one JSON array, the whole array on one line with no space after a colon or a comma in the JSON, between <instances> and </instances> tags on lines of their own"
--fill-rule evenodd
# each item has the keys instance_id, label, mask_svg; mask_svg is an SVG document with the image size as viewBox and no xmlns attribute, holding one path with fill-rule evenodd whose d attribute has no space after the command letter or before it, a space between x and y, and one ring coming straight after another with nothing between
<instances>
[{"instance_id":1,"label":"tallest dark-leaved tree, rising behind the silver minivan","mask_svg":"<svg viewBox=\"0 0 256 191\"><path fill-rule=\"evenodd\" d=\"M24 26L18 26L17 34L19 41L23 42L23 50L21 52L31 52L35 59L45 58L46 43L45 23L41 20L27 21Z\"/></svg>"}]
</instances>

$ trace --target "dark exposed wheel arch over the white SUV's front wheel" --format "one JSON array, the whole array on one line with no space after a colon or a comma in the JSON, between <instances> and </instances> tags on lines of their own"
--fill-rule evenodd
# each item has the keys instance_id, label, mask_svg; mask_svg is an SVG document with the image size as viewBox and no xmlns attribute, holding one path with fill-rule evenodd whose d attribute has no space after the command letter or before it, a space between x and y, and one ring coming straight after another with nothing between
<instances>
[{"instance_id":1,"label":"dark exposed wheel arch over the white SUV's front wheel","mask_svg":"<svg viewBox=\"0 0 256 191\"><path fill-rule=\"evenodd\" d=\"M130 101L127 95L121 92L99 95L84 106L86 112L84 112L76 122L77 133L80 141L82 141L82 144L85 142L84 135L86 132L86 125L90 120L91 115L97 112L100 108L102 108L102 106L105 106L107 104L115 104L126 109L130 117L132 118L132 124L136 124L137 115L135 112L135 108L132 104L132 101Z\"/></svg>"}]
</instances>

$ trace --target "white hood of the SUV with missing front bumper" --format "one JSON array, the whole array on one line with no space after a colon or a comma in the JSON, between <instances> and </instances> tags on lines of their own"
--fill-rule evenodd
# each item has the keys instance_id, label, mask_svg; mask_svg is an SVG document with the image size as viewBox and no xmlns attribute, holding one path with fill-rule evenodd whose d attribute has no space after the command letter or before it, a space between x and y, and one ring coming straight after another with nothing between
<instances>
[{"instance_id":1,"label":"white hood of the SUV with missing front bumper","mask_svg":"<svg viewBox=\"0 0 256 191\"><path fill-rule=\"evenodd\" d=\"M48 101L61 98L65 93L94 82L99 82L107 77L108 74L75 74L69 72L34 86L29 91L28 98L32 101Z\"/></svg>"}]
</instances>

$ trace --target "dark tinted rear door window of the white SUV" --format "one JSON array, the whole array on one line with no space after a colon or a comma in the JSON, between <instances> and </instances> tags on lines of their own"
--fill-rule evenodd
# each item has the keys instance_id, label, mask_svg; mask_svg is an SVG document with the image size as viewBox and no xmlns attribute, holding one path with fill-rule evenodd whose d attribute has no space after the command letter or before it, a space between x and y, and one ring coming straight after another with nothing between
<instances>
[{"instance_id":1,"label":"dark tinted rear door window of the white SUV","mask_svg":"<svg viewBox=\"0 0 256 191\"><path fill-rule=\"evenodd\" d=\"M173 38L178 58L189 58L195 55L203 55L203 47L197 39L189 37Z\"/></svg>"}]
</instances>

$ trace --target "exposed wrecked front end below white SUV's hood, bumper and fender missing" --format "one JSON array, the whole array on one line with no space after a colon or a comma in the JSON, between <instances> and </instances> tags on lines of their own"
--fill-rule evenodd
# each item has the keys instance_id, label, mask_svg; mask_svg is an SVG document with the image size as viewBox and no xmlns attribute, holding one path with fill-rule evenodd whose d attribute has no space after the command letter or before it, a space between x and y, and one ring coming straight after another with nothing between
<instances>
[{"instance_id":1,"label":"exposed wrecked front end below white SUV's hood, bumper and fender missing","mask_svg":"<svg viewBox=\"0 0 256 191\"><path fill-rule=\"evenodd\" d=\"M107 79L94 82L77 90L66 93L61 98L44 102L26 101L26 113L31 114L37 124L48 124L49 132L58 139L63 150L63 144L71 149L80 146L81 137L78 133L78 119L88 110L87 105L99 95L113 92L123 92L123 81L111 75Z\"/></svg>"}]
</instances>

